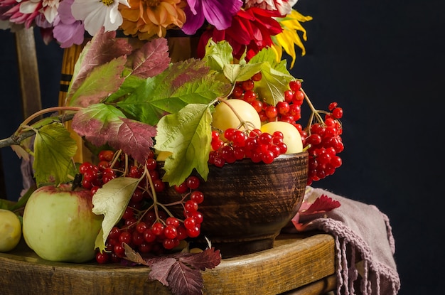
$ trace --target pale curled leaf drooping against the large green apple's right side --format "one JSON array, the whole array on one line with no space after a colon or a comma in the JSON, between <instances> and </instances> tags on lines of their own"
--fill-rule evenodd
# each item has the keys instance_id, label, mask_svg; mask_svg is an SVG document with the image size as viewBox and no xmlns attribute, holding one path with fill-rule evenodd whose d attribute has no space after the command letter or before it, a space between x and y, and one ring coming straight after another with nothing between
<instances>
[{"instance_id":1,"label":"pale curled leaf drooping against the large green apple's right side","mask_svg":"<svg viewBox=\"0 0 445 295\"><path fill-rule=\"evenodd\" d=\"M125 208L127 208L128 202L132 198L138 184L138 178L114 178L105 183L92 196L92 212L97 215L104 215L102 230L97 235L95 242L95 247L98 247L101 252L105 249L105 242L107 242L109 232L124 215Z\"/></svg>"}]
</instances>

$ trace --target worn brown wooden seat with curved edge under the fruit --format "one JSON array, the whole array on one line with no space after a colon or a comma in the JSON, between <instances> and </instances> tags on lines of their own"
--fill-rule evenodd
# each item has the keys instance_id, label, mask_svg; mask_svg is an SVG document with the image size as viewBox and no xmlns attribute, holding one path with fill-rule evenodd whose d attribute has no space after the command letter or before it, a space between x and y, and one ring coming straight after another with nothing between
<instances>
[{"instance_id":1,"label":"worn brown wooden seat with curved edge under the fruit","mask_svg":"<svg viewBox=\"0 0 445 295\"><path fill-rule=\"evenodd\" d=\"M297 289L335 272L331 235L280 235L274 248L223 259L203 272L204 294L275 295ZM1 294L156 294L169 295L149 281L147 267L119 264L49 262L21 244L0 253Z\"/></svg>"}]
</instances>

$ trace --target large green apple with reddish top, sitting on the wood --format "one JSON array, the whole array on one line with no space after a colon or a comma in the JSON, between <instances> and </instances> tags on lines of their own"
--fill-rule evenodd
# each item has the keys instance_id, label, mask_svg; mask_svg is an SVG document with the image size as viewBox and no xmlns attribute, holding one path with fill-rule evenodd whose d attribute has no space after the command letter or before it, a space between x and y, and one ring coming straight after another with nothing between
<instances>
[{"instance_id":1,"label":"large green apple with reddish top, sitting on the wood","mask_svg":"<svg viewBox=\"0 0 445 295\"><path fill-rule=\"evenodd\" d=\"M58 262L87 262L103 215L92 213L89 190L70 184L43 186L33 192L23 212L23 238L39 257Z\"/></svg>"}]
</instances>

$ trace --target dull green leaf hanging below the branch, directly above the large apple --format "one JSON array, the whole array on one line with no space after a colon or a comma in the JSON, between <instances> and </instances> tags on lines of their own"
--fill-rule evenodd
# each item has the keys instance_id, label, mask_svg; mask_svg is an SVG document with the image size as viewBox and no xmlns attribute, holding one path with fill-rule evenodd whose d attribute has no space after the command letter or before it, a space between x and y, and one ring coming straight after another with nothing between
<instances>
[{"instance_id":1,"label":"dull green leaf hanging below the branch, directly above the large apple","mask_svg":"<svg viewBox=\"0 0 445 295\"><path fill-rule=\"evenodd\" d=\"M63 124L51 123L38 129L33 163L37 186L68 182L68 176L76 173L72 160L76 150L76 142Z\"/></svg>"}]
</instances>

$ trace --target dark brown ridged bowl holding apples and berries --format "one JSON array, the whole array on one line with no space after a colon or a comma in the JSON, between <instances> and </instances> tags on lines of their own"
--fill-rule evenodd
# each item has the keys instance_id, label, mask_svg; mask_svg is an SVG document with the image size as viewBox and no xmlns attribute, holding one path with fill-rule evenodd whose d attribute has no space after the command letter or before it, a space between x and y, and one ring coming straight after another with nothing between
<instances>
[{"instance_id":1,"label":"dark brown ridged bowl holding apples and berries","mask_svg":"<svg viewBox=\"0 0 445 295\"><path fill-rule=\"evenodd\" d=\"M223 257L272 248L303 201L308 154L284 154L270 164L245 159L209 168L208 180L198 188L205 198L198 209L204 217L201 237L208 237ZM170 203L178 195L168 188L160 198ZM181 205L169 209L182 215Z\"/></svg>"}]
</instances>

